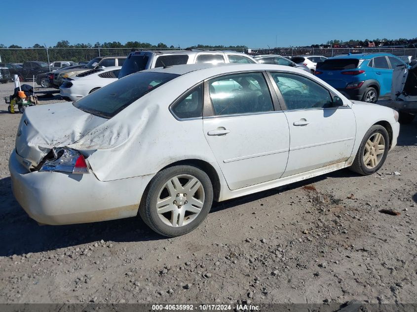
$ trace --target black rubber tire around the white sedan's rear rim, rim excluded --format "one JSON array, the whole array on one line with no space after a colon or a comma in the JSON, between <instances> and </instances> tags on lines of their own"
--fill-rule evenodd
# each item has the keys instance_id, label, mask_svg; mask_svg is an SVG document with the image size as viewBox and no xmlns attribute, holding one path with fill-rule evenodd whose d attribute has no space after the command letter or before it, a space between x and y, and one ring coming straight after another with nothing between
<instances>
[{"instance_id":1,"label":"black rubber tire around the white sedan's rear rim, rim excluded","mask_svg":"<svg viewBox=\"0 0 417 312\"><path fill-rule=\"evenodd\" d=\"M159 191L164 187L165 183L173 177L181 174L192 175L200 181L204 190L204 202L200 212L192 221L190 221L190 223L184 226L173 227L165 224L159 218L156 211L156 201L159 196ZM192 230L196 229L209 213L212 202L213 186L210 178L204 171L192 166L174 166L156 173L156 175L152 178L142 196L141 205L139 207L139 215L156 233L163 236L175 237L190 233Z\"/></svg>"}]
</instances>

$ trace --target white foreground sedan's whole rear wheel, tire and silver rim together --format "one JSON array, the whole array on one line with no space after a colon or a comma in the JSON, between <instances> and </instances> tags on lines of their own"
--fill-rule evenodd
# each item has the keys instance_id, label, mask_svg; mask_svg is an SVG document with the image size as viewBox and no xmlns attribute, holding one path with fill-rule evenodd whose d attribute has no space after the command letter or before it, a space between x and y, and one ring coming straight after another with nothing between
<instances>
[{"instance_id":1,"label":"white foreground sedan's whole rear wheel, tire and silver rim together","mask_svg":"<svg viewBox=\"0 0 417 312\"><path fill-rule=\"evenodd\" d=\"M174 237L197 228L212 202L213 186L205 172L192 166L174 166L152 178L139 214L156 233Z\"/></svg>"}]
</instances>

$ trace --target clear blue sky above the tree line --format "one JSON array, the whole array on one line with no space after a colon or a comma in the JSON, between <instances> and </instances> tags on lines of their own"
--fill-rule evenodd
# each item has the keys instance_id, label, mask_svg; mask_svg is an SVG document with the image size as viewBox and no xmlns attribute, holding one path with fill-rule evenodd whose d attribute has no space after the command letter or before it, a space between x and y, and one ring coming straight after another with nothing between
<instances>
[{"instance_id":1,"label":"clear blue sky above the tree line","mask_svg":"<svg viewBox=\"0 0 417 312\"><path fill-rule=\"evenodd\" d=\"M72 44L141 41L184 48L199 43L255 48L417 36L412 0L1 2L0 12L9 12L0 19L0 43L6 46L53 46L68 40Z\"/></svg>"}]
</instances>

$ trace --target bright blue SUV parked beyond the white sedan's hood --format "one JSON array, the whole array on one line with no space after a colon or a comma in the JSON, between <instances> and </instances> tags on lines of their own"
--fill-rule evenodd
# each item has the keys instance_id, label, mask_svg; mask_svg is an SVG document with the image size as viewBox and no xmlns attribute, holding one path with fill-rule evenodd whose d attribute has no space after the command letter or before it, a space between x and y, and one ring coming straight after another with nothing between
<instances>
[{"instance_id":1,"label":"bright blue SUV parked beyond the white sedan's hood","mask_svg":"<svg viewBox=\"0 0 417 312\"><path fill-rule=\"evenodd\" d=\"M376 103L390 98L392 71L399 65L405 63L389 53L347 53L318 63L314 74L348 99Z\"/></svg>"}]
</instances>

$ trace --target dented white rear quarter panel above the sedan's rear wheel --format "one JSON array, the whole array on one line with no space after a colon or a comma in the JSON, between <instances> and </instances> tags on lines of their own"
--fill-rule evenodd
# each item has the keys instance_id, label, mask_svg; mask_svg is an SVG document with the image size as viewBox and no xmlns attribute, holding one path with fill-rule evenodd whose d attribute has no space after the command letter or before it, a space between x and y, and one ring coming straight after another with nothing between
<instances>
[{"instance_id":1,"label":"dented white rear quarter panel above the sedan's rear wheel","mask_svg":"<svg viewBox=\"0 0 417 312\"><path fill-rule=\"evenodd\" d=\"M195 82L181 76L158 87L68 147L94 151L88 162L101 181L155 174L187 159L217 165L202 119L179 121L168 108Z\"/></svg>"}]
</instances>

